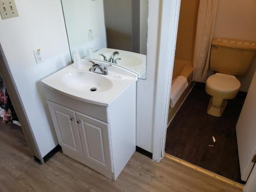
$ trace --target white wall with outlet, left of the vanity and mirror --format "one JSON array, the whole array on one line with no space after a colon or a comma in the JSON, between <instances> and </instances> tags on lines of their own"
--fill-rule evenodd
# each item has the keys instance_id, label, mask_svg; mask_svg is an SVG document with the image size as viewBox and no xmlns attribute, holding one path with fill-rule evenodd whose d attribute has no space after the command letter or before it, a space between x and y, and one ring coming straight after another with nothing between
<instances>
[{"instance_id":1,"label":"white wall with outlet, left of the vanity and mirror","mask_svg":"<svg viewBox=\"0 0 256 192\"><path fill-rule=\"evenodd\" d=\"M40 80L71 62L59 0L16 0L19 17L0 19L0 42L41 156L56 145ZM34 49L45 62L36 64ZM50 122L50 123L49 123Z\"/></svg>"}]
</instances>

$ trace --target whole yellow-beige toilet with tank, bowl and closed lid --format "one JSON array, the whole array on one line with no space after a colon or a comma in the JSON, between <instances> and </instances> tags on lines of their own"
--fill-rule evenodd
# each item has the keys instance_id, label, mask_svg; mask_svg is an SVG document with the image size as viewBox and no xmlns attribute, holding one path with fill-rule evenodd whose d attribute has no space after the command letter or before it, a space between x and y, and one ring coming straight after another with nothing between
<instances>
[{"instance_id":1,"label":"whole yellow-beige toilet with tank, bowl and closed lid","mask_svg":"<svg viewBox=\"0 0 256 192\"><path fill-rule=\"evenodd\" d=\"M210 69L215 72L206 80L205 91L211 96L207 113L221 117L227 99L233 99L241 83L234 75L245 75L256 51L255 42L214 38L211 43Z\"/></svg>"}]
</instances>

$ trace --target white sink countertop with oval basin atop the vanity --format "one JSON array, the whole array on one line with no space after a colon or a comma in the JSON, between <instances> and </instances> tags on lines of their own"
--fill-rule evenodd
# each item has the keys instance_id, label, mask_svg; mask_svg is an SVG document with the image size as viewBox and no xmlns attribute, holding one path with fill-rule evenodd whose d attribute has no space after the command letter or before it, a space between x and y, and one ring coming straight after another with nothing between
<instances>
[{"instance_id":1,"label":"white sink countertop with oval basin atop the vanity","mask_svg":"<svg viewBox=\"0 0 256 192\"><path fill-rule=\"evenodd\" d=\"M105 62L96 63L104 66ZM82 68L74 68L74 64L42 79L48 89L66 96L93 104L109 106L122 90L138 80L138 75L124 68L112 65L109 74L101 75L89 71L92 63L82 59Z\"/></svg>"}]
</instances>

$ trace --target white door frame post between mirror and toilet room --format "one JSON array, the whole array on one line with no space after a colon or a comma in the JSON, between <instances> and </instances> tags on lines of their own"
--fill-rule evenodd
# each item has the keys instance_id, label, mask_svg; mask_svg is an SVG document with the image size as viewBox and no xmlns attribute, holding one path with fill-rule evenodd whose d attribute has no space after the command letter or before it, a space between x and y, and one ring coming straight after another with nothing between
<instances>
[{"instance_id":1,"label":"white door frame post between mirror and toilet room","mask_svg":"<svg viewBox=\"0 0 256 192\"><path fill-rule=\"evenodd\" d=\"M160 49L155 87L153 160L164 157L170 88L174 67L181 0L162 0Z\"/></svg>"}]
</instances>

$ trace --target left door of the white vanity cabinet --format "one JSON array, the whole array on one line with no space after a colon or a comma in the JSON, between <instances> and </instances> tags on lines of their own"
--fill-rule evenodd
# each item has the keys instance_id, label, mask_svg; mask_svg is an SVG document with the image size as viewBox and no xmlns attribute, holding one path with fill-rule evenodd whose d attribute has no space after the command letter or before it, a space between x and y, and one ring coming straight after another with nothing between
<instances>
[{"instance_id":1,"label":"left door of the white vanity cabinet","mask_svg":"<svg viewBox=\"0 0 256 192\"><path fill-rule=\"evenodd\" d=\"M63 152L83 156L75 111L48 101L55 131Z\"/></svg>"}]
</instances>

